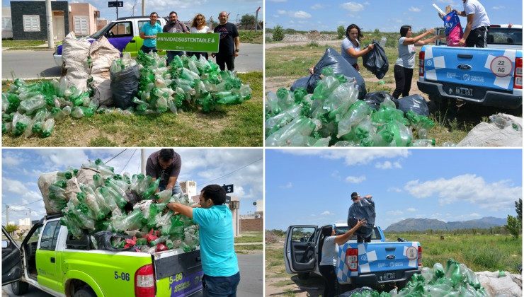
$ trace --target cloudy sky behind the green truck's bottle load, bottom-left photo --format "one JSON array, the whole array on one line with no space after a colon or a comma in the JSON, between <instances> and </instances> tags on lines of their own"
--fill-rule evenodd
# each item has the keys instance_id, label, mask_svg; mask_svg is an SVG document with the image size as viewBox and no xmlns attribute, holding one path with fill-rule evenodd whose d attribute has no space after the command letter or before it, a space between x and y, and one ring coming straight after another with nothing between
<instances>
[{"instance_id":1,"label":"cloudy sky behind the green truck's bottle load, bottom-left photo","mask_svg":"<svg viewBox=\"0 0 524 297\"><path fill-rule=\"evenodd\" d=\"M146 149L146 155L157 149ZM9 221L18 224L18 219L28 216L31 219L41 219L45 215L44 204L38 177L41 173L54 170L64 170L68 166L80 168L88 160L101 158L108 161L118 149L3 149L2 150L2 224L6 220L6 206L10 206ZM197 191L205 185L234 184L232 196L240 199L240 214L256 211L253 202L263 199L263 151L259 148L175 148L181 155L182 169L179 181L194 180ZM135 153L133 155L133 153ZM129 163L126 166L126 163ZM122 170L130 174L140 172L140 149L128 148L108 162L115 168L115 173ZM249 165L251 164L251 165ZM244 167L246 166L246 167ZM244 168L243 168L244 167ZM241 169L239 169L241 168ZM237 170L237 171L235 171ZM232 173L234 172L234 173ZM228 175L232 173L231 175ZM227 175L225 177L222 177ZM222 177L217 179L218 177ZM217 179L217 180L215 180ZM40 200L40 201L39 201ZM35 202L38 201L38 202ZM35 202L27 206L28 204Z\"/></svg>"}]
</instances>

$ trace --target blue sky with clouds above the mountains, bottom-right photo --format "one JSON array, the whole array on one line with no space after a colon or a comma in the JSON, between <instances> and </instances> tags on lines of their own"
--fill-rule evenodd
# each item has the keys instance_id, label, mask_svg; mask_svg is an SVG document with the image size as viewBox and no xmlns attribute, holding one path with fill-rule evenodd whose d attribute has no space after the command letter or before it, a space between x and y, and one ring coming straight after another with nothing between
<instances>
[{"instance_id":1,"label":"blue sky with clouds above the mountains, bottom-right photo","mask_svg":"<svg viewBox=\"0 0 524 297\"><path fill-rule=\"evenodd\" d=\"M351 192L372 194L382 228L515 216L522 164L520 150L267 149L266 229L345 223Z\"/></svg>"}]
</instances>

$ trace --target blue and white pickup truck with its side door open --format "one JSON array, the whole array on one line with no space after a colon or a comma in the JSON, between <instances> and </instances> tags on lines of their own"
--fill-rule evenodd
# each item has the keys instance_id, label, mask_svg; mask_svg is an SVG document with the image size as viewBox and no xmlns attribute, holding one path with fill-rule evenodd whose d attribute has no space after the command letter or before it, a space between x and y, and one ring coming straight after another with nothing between
<instances>
[{"instance_id":1,"label":"blue and white pickup truck with its side door open","mask_svg":"<svg viewBox=\"0 0 524 297\"><path fill-rule=\"evenodd\" d=\"M298 274L300 279L309 273L321 275L319 263L324 243L324 228L333 225L296 225L287 228L284 243L285 269ZM336 234L343 234L349 227L334 224ZM422 268L422 248L418 242L387 242L380 227L375 226L370 243L357 243L356 235L343 245L336 245L338 283L350 286L391 285L403 287L411 276Z\"/></svg>"}]
</instances>

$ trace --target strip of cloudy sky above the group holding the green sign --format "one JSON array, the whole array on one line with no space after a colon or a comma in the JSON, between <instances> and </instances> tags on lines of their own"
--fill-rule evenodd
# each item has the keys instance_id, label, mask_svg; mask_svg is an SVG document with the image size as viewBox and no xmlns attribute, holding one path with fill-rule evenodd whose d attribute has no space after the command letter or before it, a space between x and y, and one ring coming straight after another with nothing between
<instances>
[{"instance_id":1,"label":"strip of cloudy sky above the group holding the green sign","mask_svg":"<svg viewBox=\"0 0 524 297\"><path fill-rule=\"evenodd\" d=\"M135 16L142 14L142 0L123 0L124 7L118 8L118 16L132 16L133 6L135 6ZM193 19L196 13L203 13L207 20L210 16L213 20L217 21L218 13L220 11L227 11L230 13L229 21L234 21L239 15L241 16L246 13L255 15L256 8L262 6L262 0L147 0L146 4L146 15L156 11L159 16L168 16L169 12L176 11L178 13L178 19L181 21L189 21ZM69 3L89 3L100 11L101 18L106 18L110 21L116 19L116 8L108 8L108 0L72 0ZM136 5L135 5L136 4ZM10 1L2 0L2 6L10 6ZM262 9L261 9L262 11ZM258 19L262 20L262 13L258 13Z\"/></svg>"}]
</instances>

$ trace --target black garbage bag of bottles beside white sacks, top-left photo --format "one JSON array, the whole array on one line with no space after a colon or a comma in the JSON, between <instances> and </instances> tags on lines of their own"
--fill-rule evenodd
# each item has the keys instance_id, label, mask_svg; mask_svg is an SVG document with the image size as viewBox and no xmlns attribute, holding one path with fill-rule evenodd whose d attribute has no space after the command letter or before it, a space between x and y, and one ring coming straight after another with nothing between
<instances>
[{"instance_id":1,"label":"black garbage bag of bottles beside white sacks, top-left photo","mask_svg":"<svg viewBox=\"0 0 524 297\"><path fill-rule=\"evenodd\" d=\"M133 106L133 97L137 95L140 72L138 64L127 67L122 71L114 73L110 71L111 93L115 107L126 108Z\"/></svg>"}]
</instances>

